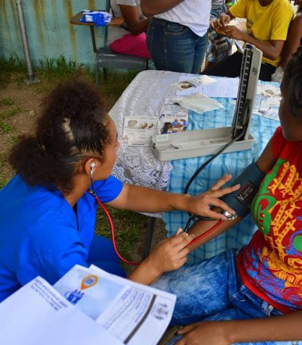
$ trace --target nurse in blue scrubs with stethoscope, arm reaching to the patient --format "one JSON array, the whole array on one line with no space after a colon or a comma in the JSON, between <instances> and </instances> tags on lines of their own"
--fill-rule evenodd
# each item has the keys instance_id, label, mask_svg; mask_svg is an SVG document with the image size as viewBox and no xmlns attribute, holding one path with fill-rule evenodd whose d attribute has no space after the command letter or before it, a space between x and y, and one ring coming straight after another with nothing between
<instances>
[{"instance_id":1,"label":"nurse in blue scrubs with stethoscope, arm reaching to the patient","mask_svg":"<svg viewBox=\"0 0 302 345\"><path fill-rule=\"evenodd\" d=\"M60 84L43 103L36 134L10 153L16 175L0 191L0 302L36 276L55 283L75 264L91 263L125 276L111 242L95 236L97 203L138 212L184 210L216 219L209 205L233 210L218 198L225 176L211 190L177 195L121 183L111 175L119 143L99 91L82 81ZM178 233L160 242L129 276L150 284L186 261L193 235Z\"/></svg>"}]
</instances>

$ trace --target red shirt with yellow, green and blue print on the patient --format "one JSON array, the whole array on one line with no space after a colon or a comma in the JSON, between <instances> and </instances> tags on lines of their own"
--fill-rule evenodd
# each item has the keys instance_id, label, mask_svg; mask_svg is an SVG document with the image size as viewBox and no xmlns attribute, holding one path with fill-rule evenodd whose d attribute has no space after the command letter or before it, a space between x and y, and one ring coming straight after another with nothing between
<instances>
[{"instance_id":1,"label":"red shirt with yellow, green and blue print on the patient","mask_svg":"<svg viewBox=\"0 0 302 345\"><path fill-rule=\"evenodd\" d=\"M283 313L302 309L302 141L272 140L275 165L252 203L258 226L238 255L243 283Z\"/></svg>"}]
</instances>

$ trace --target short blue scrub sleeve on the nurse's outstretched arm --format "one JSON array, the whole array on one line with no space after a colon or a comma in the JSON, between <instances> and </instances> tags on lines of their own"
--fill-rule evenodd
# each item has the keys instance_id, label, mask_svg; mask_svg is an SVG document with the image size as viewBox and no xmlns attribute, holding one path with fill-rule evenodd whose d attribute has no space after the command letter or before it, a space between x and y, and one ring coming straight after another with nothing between
<instances>
[{"instance_id":1,"label":"short blue scrub sleeve on the nurse's outstretched arm","mask_svg":"<svg viewBox=\"0 0 302 345\"><path fill-rule=\"evenodd\" d=\"M106 180L96 181L94 183L94 188L100 200L103 201L103 203L109 203L109 201L119 196L123 189L123 183L111 175Z\"/></svg>"}]
</instances>

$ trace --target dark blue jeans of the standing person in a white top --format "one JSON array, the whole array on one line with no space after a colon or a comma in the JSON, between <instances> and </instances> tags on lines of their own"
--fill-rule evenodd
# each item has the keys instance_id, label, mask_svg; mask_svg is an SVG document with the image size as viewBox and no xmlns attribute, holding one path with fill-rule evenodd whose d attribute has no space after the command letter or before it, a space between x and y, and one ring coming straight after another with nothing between
<instances>
[{"instance_id":1,"label":"dark blue jeans of the standing person in a white top","mask_svg":"<svg viewBox=\"0 0 302 345\"><path fill-rule=\"evenodd\" d=\"M146 42L157 70L200 72L206 50L206 34L200 37L187 26L153 17Z\"/></svg>"}]
</instances>

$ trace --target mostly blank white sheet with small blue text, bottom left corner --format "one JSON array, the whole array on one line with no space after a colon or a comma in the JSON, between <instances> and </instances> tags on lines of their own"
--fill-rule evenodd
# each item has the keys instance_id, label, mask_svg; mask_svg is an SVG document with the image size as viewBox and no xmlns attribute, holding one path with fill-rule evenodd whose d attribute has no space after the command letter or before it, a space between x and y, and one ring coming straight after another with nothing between
<instances>
[{"instance_id":1,"label":"mostly blank white sheet with small blue text, bottom left corner","mask_svg":"<svg viewBox=\"0 0 302 345\"><path fill-rule=\"evenodd\" d=\"M122 345L37 277L0 304L0 344Z\"/></svg>"}]
</instances>

